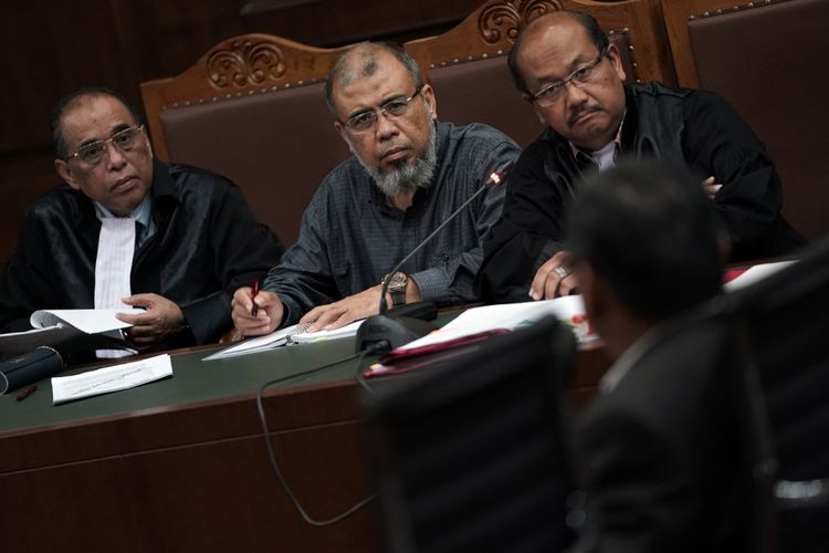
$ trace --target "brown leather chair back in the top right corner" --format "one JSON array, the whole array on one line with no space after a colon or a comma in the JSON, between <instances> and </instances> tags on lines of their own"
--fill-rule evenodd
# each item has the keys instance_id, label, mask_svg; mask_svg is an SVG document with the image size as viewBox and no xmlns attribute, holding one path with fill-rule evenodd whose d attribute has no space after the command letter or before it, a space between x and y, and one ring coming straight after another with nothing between
<instances>
[{"instance_id":1,"label":"brown leather chair back in the top right corner","mask_svg":"<svg viewBox=\"0 0 829 553\"><path fill-rule=\"evenodd\" d=\"M765 143L784 186L784 215L809 239L829 233L829 2L663 0L680 85L713 91Z\"/></svg>"}]
</instances>

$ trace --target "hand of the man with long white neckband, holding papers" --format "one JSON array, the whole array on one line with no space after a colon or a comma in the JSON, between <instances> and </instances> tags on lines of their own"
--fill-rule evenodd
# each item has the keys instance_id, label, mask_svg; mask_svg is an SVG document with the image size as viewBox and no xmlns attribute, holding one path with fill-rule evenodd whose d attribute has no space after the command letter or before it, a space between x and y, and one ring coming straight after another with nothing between
<instances>
[{"instance_id":1,"label":"hand of the man with long white neckband, holding papers","mask_svg":"<svg viewBox=\"0 0 829 553\"><path fill-rule=\"evenodd\" d=\"M185 314L175 302L158 294L135 294L122 300L127 305L144 307L145 313L129 315L118 313L118 321L133 326L124 333L136 346L148 346L187 327Z\"/></svg>"}]
</instances>

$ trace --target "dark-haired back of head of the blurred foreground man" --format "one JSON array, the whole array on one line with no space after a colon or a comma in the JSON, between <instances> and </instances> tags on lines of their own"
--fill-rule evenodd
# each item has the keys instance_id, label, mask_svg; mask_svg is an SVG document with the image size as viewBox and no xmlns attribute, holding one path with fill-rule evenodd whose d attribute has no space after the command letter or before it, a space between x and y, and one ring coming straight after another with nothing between
<instances>
[{"instance_id":1,"label":"dark-haired back of head of the blurred foreground man","mask_svg":"<svg viewBox=\"0 0 829 553\"><path fill-rule=\"evenodd\" d=\"M718 227L684 168L625 161L584 182L569 246L631 313L661 321L716 295Z\"/></svg>"}]
</instances>

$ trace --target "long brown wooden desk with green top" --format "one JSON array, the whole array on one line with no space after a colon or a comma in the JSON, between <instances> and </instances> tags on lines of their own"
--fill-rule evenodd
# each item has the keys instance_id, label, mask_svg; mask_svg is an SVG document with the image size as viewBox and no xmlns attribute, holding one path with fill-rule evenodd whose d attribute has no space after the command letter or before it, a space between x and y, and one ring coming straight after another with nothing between
<instances>
[{"instance_id":1,"label":"long brown wooden desk with green top","mask_svg":"<svg viewBox=\"0 0 829 553\"><path fill-rule=\"evenodd\" d=\"M267 463L258 387L350 354L351 340L201 362L172 356L174 377L52 406L51 387L0 396L0 536L23 552L371 552L374 507L308 526ZM581 396L607 367L580 352ZM356 363L266 395L285 477L317 518L369 493L354 398Z\"/></svg>"}]
</instances>

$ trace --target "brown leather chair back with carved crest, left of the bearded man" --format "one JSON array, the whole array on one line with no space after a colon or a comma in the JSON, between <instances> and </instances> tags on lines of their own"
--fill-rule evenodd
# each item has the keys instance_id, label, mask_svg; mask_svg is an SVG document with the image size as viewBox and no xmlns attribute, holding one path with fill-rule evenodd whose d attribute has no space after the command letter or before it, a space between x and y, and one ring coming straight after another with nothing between
<instances>
[{"instance_id":1,"label":"brown leather chair back with carved crest, left of the bearded man","mask_svg":"<svg viewBox=\"0 0 829 553\"><path fill-rule=\"evenodd\" d=\"M232 179L260 220L293 243L319 181L348 155L323 92L343 50L248 34L176 77L143 83L156 154Z\"/></svg>"}]
</instances>

